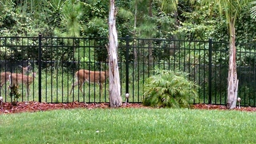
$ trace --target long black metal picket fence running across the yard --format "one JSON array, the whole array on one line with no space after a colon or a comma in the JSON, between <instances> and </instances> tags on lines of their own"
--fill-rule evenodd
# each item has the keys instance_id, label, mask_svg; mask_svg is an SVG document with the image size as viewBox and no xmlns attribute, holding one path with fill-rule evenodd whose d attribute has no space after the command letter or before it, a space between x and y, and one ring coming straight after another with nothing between
<instances>
[{"instance_id":1,"label":"long black metal picket fence running across the yard","mask_svg":"<svg viewBox=\"0 0 256 144\"><path fill-rule=\"evenodd\" d=\"M130 94L129 102L142 102L145 80L154 75L154 69L178 68L190 73L190 80L200 85L199 100L195 103L226 104L228 78L228 44L226 42L187 41L171 39L119 38L118 66L121 94ZM8 76L22 73L20 66L30 65L36 77L21 78L19 101L39 102L108 102L108 79L100 92L97 76L90 73L90 84L81 92L76 82L76 71L85 69L108 70L107 38L52 38L0 37L1 96L9 96ZM256 106L255 48L253 44L237 44L238 96L243 106ZM19 66L20 65L20 66ZM3 75L2 75L3 74ZM29 74L31 76L31 74ZM103 78L104 78L103 77ZM102 78L102 77L100 77ZM101 80L102 81L102 80ZM31 82L26 96L25 84ZM23 83L23 84L22 84ZM69 94L71 93L71 94Z\"/></svg>"}]
</instances>

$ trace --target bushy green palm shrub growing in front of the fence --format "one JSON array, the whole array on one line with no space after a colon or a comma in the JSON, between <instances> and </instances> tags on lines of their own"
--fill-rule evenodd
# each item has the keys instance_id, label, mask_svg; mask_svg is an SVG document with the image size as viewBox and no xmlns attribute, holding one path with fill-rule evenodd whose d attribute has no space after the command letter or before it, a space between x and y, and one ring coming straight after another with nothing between
<instances>
[{"instance_id":1,"label":"bushy green palm shrub growing in front of the fence","mask_svg":"<svg viewBox=\"0 0 256 144\"><path fill-rule=\"evenodd\" d=\"M144 84L143 104L153 107L190 108L198 99L198 85L188 80L188 73L178 69L155 69L156 75Z\"/></svg>"}]
</instances>

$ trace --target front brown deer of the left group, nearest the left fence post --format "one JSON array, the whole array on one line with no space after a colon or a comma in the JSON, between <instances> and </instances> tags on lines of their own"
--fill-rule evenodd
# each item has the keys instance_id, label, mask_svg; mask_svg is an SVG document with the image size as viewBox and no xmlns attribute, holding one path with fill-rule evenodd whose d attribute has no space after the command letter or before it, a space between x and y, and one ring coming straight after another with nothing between
<instances>
[{"instance_id":1,"label":"front brown deer of the left group, nearest the left fence post","mask_svg":"<svg viewBox=\"0 0 256 144\"><path fill-rule=\"evenodd\" d=\"M9 74L10 86L14 86L14 85L18 86L19 84L25 84L26 94L28 97L28 93L30 91L29 85L32 84L35 77L36 77L36 72L33 72L32 76L27 76L24 74L17 74L17 73Z\"/></svg>"}]
</instances>

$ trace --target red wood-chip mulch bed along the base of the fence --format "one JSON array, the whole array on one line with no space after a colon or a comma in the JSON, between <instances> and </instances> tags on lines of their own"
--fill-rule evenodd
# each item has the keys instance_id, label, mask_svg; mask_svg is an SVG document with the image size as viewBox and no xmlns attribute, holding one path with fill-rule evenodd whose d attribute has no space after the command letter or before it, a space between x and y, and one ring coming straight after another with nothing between
<instances>
[{"instance_id":1,"label":"red wood-chip mulch bed along the base of the fence","mask_svg":"<svg viewBox=\"0 0 256 144\"><path fill-rule=\"evenodd\" d=\"M10 102L3 102L3 109L0 109L0 114L6 113L18 113L18 112L36 112L36 111L45 111L45 110L56 110L56 109L71 109L71 108L108 108L108 103L90 103L86 104L83 102L72 102L72 103L40 103L40 102L18 102L15 106ZM142 106L142 104L137 103L125 103L121 108L150 108L147 106ZM212 105L212 104L195 104L193 106L195 109L218 109L218 110L227 110L226 106L222 105ZM256 107L241 107L235 108L234 110L241 111L256 111Z\"/></svg>"}]
</instances>

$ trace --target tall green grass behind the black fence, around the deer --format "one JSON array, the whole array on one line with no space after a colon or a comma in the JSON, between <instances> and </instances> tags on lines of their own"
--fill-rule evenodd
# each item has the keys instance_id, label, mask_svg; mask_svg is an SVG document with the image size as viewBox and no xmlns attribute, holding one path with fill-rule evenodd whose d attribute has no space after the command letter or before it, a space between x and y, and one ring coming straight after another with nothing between
<instances>
[{"instance_id":1,"label":"tall green grass behind the black fence, around the deer","mask_svg":"<svg viewBox=\"0 0 256 144\"><path fill-rule=\"evenodd\" d=\"M143 66L143 67L142 67ZM162 65L161 65L162 66ZM156 64L156 67L157 64ZM133 69L134 68L134 69ZM129 69L129 102L142 102L143 93L144 93L144 80L148 78L148 76L154 74L151 70L153 67L144 66L143 64L130 65ZM168 68L168 66L166 66ZM18 69L20 70L20 69ZM35 72L38 72L37 68L34 69ZM70 92L72 83L75 82L73 71L69 71L66 68L48 68L42 69L42 102L108 102L108 80L106 85L103 88L103 94L100 95L100 88L98 84L88 84L85 83L83 90L84 96L82 92L78 90L78 86L74 88L74 93L68 96ZM75 72L75 71L74 71ZM120 84L121 84L121 95L123 102L125 102L125 94L126 94L126 75L125 75L125 64L120 65ZM201 75L202 77L202 75ZM9 82L7 82L9 85ZM200 100L195 101L194 103L208 103L208 86L207 83L200 83ZM5 85L3 86L5 88ZM30 94L26 96L25 86L20 86L20 92L22 92L22 96L18 101L38 101L38 77L34 79L34 83L30 85ZM5 92L1 90L1 96L4 97L4 102L11 102L11 98L9 97L9 91ZM225 104L226 97L224 94L215 98L214 94L212 95L212 102L216 104ZM251 103L252 104L252 103Z\"/></svg>"}]
</instances>

